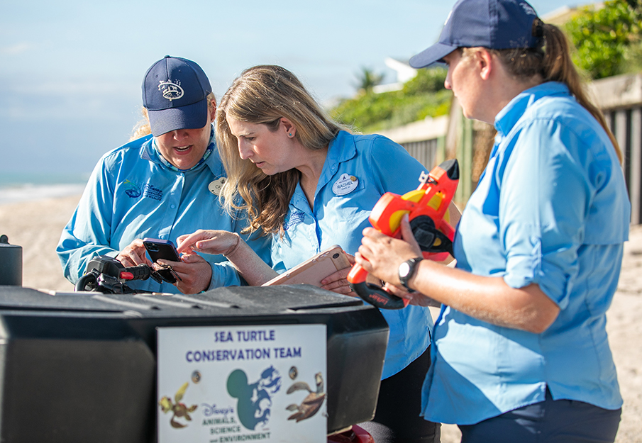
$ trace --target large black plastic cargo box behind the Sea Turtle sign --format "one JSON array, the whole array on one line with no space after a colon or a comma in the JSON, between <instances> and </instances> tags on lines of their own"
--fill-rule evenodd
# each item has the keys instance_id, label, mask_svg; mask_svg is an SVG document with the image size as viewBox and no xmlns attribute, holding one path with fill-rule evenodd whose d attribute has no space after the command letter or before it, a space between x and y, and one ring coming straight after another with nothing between
<instances>
[{"instance_id":1,"label":"large black plastic cargo box behind the Sea Turtle sign","mask_svg":"<svg viewBox=\"0 0 642 443\"><path fill-rule=\"evenodd\" d=\"M154 442L156 328L325 324L328 433L374 414L388 326L314 286L193 296L0 286L0 442Z\"/></svg>"}]
</instances>

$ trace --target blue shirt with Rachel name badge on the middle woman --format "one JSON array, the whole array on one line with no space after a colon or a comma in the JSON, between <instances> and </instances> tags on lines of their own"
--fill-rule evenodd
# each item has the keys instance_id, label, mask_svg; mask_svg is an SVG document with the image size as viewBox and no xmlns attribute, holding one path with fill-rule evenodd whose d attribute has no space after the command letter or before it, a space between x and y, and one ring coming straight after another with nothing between
<instances>
[{"instance_id":1,"label":"blue shirt with Rachel name badge on the middle woman","mask_svg":"<svg viewBox=\"0 0 642 443\"><path fill-rule=\"evenodd\" d=\"M424 167L403 147L381 135L338 133L330 143L314 194L314 209L297 186L285 220L285 237L274 236L272 262L283 272L332 245L355 254L368 216L385 192L405 194L419 186ZM401 371L430 344L428 308L382 310L390 327L382 378Z\"/></svg>"}]
</instances>

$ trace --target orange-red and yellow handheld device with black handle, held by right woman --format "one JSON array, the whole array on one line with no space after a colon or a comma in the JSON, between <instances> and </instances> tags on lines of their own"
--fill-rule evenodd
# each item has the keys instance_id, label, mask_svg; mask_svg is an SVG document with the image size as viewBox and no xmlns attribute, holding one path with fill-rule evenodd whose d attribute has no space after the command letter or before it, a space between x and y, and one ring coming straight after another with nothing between
<instances>
[{"instance_id":1,"label":"orange-red and yellow handheld device with black handle, held by right woman","mask_svg":"<svg viewBox=\"0 0 642 443\"><path fill-rule=\"evenodd\" d=\"M448 206L459 182L457 159L446 160L430 174L421 173L419 188L403 196L387 192L370 213L372 227L394 238L401 238L402 217L408 214L410 227L426 259L441 262L453 254L455 229L448 223ZM368 303L383 309L401 309L408 301L368 283L367 271L355 264L348 282L355 293Z\"/></svg>"}]
</instances>

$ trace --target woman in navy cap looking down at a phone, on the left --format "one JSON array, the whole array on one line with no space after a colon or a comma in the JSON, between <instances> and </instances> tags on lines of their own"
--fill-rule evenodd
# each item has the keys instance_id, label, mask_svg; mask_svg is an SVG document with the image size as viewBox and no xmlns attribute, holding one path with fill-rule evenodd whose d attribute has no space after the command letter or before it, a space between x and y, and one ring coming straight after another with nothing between
<instances>
[{"instance_id":1,"label":"woman in navy cap looking down at a phone, on the left","mask_svg":"<svg viewBox=\"0 0 642 443\"><path fill-rule=\"evenodd\" d=\"M226 180L214 138L216 100L197 63L181 57L155 62L143 80L143 106L151 134L107 152L96 164L56 249L67 279L75 283L96 255L126 267L153 265L143 238L176 242L198 228L240 232L241 220L223 211L218 194ZM250 245L269 257L265 240ZM167 262L175 285L131 281L140 291L198 293L238 285L222 255L186 253Z\"/></svg>"}]
</instances>

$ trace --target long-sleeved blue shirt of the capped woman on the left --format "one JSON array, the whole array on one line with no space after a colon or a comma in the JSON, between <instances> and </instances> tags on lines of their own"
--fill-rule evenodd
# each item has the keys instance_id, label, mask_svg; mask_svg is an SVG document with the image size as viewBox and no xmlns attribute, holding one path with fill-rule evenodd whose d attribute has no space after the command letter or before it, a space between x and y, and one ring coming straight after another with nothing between
<instances>
[{"instance_id":1,"label":"long-sleeved blue shirt of the capped woman on the left","mask_svg":"<svg viewBox=\"0 0 642 443\"><path fill-rule=\"evenodd\" d=\"M199 229L240 232L242 221L228 215L209 190L226 176L212 127L211 153L187 171L170 167L154 148L151 135L107 152L96 164L76 211L62 231L56 252L65 277L74 283L92 257L118 252L137 238L160 238L176 244L179 235ZM248 240L245 236L243 236ZM269 260L270 240L254 235L249 245ZM241 284L236 269L222 255L201 254L212 267L209 288ZM143 291L177 293L172 284L153 279L131 281Z\"/></svg>"}]
</instances>

